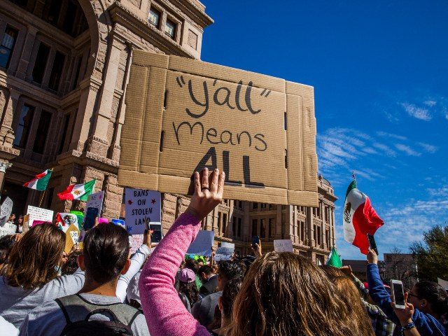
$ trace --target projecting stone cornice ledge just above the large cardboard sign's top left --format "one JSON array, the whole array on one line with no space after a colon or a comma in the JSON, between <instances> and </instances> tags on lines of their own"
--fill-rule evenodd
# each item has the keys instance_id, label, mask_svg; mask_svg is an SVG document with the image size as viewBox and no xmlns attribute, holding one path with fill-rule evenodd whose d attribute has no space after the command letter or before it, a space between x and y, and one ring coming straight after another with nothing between
<instances>
[{"instance_id":1,"label":"projecting stone cornice ledge just above the large cardboard sign's top left","mask_svg":"<svg viewBox=\"0 0 448 336\"><path fill-rule=\"evenodd\" d=\"M109 13L111 15L111 20L113 23L119 23L123 27L130 29L130 31L136 33L140 37L144 38L149 43L153 44L155 48L160 49L162 52L170 55L177 55L188 58L195 58L195 56L182 48L182 46L169 38L162 31L153 27L146 20L140 18L136 14L132 13L131 10L123 6L119 2L114 2L109 8ZM115 35L120 36L120 33L114 29ZM126 36L121 36L127 40ZM143 45L139 45L137 42L132 42L134 45L141 48Z\"/></svg>"}]
</instances>

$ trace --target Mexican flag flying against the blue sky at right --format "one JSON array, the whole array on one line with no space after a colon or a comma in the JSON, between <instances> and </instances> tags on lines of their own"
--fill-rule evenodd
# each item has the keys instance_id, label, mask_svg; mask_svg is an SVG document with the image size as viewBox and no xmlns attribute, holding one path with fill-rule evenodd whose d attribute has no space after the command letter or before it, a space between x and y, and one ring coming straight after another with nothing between
<instances>
[{"instance_id":1,"label":"Mexican flag flying against the blue sky at right","mask_svg":"<svg viewBox=\"0 0 448 336\"><path fill-rule=\"evenodd\" d=\"M343 217L345 240L367 255L367 233L374 235L384 222L372 208L369 197L356 188L356 181L352 181L347 188Z\"/></svg>"}]
</instances>

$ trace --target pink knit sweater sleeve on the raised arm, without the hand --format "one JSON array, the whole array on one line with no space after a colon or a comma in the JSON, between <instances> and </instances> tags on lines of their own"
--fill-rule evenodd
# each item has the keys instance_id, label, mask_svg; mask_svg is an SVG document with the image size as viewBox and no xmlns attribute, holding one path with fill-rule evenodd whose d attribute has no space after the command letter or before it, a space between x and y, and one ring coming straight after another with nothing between
<instances>
[{"instance_id":1,"label":"pink knit sweater sleeve on the raised arm, without the hand","mask_svg":"<svg viewBox=\"0 0 448 336\"><path fill-rule=\"evenodd\" d=\"M174 288L176 272L199 229L195 216L179 216L141 272L140 300L151 336L210 336L188 313Z\"/></svg>"}]
</instances>

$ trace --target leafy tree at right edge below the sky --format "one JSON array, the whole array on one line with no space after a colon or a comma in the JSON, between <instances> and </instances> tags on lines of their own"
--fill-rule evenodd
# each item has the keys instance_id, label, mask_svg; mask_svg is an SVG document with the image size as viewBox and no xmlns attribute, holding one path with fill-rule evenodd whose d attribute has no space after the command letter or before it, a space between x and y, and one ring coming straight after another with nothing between
<instances>
[{"instance_id":1,"label":"leafy tree at right edge below the sky","mask_svg":"<svg viewBox=\"0 0 448 336\"><path fill-rule=\"evenodd\" d=\"M448 226L435 226L423 232L423 242L409 246L419 267L419 279L448 279Z\"/></svg>"}]
</instances>

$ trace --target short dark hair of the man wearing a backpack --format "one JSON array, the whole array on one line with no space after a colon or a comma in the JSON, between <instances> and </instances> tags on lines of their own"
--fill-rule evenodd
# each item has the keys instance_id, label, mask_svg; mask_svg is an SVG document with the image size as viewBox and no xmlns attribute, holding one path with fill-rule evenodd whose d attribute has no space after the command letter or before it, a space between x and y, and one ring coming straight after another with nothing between
<instances>
[{"instance_id":1,"label":"short dark hair of the man wearing a backpack","mask_svg":"<svg viewBox=\"0 0 448 336\"><path fill-rule=\"evenodd\" d=\"M120 276L129 255L129 235L120 225L101 224L83 242L86 278L106 283Z\"/></svg>"}]
</instances>

